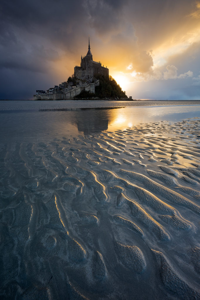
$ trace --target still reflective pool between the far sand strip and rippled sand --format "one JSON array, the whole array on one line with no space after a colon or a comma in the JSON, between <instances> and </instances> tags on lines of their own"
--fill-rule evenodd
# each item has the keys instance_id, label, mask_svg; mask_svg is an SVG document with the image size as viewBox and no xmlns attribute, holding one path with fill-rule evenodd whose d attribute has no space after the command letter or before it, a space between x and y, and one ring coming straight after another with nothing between
<instances>
[{"instance_id":1,"label":"still reflective pool between the far sand strip and rippled sand","mask_svg":"<svg viewBox=\"0 0 200 300\"><path fill-rule=\"evenodd\" d=\"M87 109L45 109L1 113L0 142L20 139L48 142L58 136L77 136L102 131L124 130L141 123L163 120L177 122L199 116L200 105L162 107L114 107ZM12 111L13 112L13 111Z\"/></svg>"}]
</instances>

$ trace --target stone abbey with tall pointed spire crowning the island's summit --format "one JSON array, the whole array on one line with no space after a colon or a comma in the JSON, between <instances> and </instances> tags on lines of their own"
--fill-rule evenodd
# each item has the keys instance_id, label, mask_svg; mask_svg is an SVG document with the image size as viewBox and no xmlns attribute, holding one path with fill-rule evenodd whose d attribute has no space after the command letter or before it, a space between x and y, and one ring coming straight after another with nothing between
<instances>
[{"instance_id":1,"label":"stone abbey with tall pointed spire crowning the island's summit","mask_svg":"<svg viewBox=\"0 0 200 300\"><path fill-rule=\"evenodd\" d=\"M97 74L109 76L109 70L107 67L102 66L100 61L93 61L89 44L86 56L82 57L81 55L80 67L74 67L74 76L78 79L90 79L92 81L92 78Z\"/></svg>"}]
</instances>

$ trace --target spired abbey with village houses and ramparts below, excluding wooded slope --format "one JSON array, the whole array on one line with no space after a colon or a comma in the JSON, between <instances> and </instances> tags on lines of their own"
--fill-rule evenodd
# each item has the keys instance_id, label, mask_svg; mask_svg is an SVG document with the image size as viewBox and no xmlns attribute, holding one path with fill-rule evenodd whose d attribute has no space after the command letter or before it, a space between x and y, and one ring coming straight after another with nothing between
<instances>
[{"instance_id":1,"label":"spired abbey with village houses and ramparts below, excluding wooded slope","mask_svg":"<svg viewBox=\"0 0 200 300\"><path fill-rule=\"evenodd\" d=\"M89 91L90 93L95 93L95 86L99 85L99 79L97 80L95 76L103 75L109 76L109 70L107 67L102 66L102 64L92 60L92 53L90 51L90 44L88 45L88 52L86 56L82 58L80 67L74 67L74 81L64 81L61 84L55 85L54 88L49 88L48 90L37 90L36 95L34 95L34 100L67 100L73 99L81 91ZM98 78L98 77L97 77Z\"/></svg>"}]
</instances>

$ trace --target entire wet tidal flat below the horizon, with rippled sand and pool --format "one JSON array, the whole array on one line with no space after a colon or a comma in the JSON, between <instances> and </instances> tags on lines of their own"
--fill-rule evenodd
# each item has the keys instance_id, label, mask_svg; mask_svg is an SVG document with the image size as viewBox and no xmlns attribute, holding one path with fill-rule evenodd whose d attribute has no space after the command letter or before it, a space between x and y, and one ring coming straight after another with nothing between
<instances>
[{"instance_id":1,"label":"entire wet tidal flat below the horizon, with rippled sand and pool","mask_svg":"<svg viewBox=\"0 0 200 300\"><path fill-rule=\"evenodd\" d=\"M0 101L1 299L200 299L199 101Z\"/></svg>"}]
</instances>

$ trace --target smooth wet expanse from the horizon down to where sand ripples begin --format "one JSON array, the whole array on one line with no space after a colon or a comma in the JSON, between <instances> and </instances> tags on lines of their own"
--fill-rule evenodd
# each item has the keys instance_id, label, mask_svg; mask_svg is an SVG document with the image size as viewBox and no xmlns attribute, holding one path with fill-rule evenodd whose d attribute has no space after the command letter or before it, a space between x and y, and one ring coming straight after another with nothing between
<instances>
[{"instance_id":1,"label":"smooth wet expanse from the horizon down to where sand ripples begin","mask_svg":"<svg viewBox=\"0 0 200 300\"><path fill-rule=\"evenodd\" d=\"M0 101L0 137L4 142L13 138L48 141L49 135L123 130L199 115L200 101Z\"/></svg>"}]
</instances>

